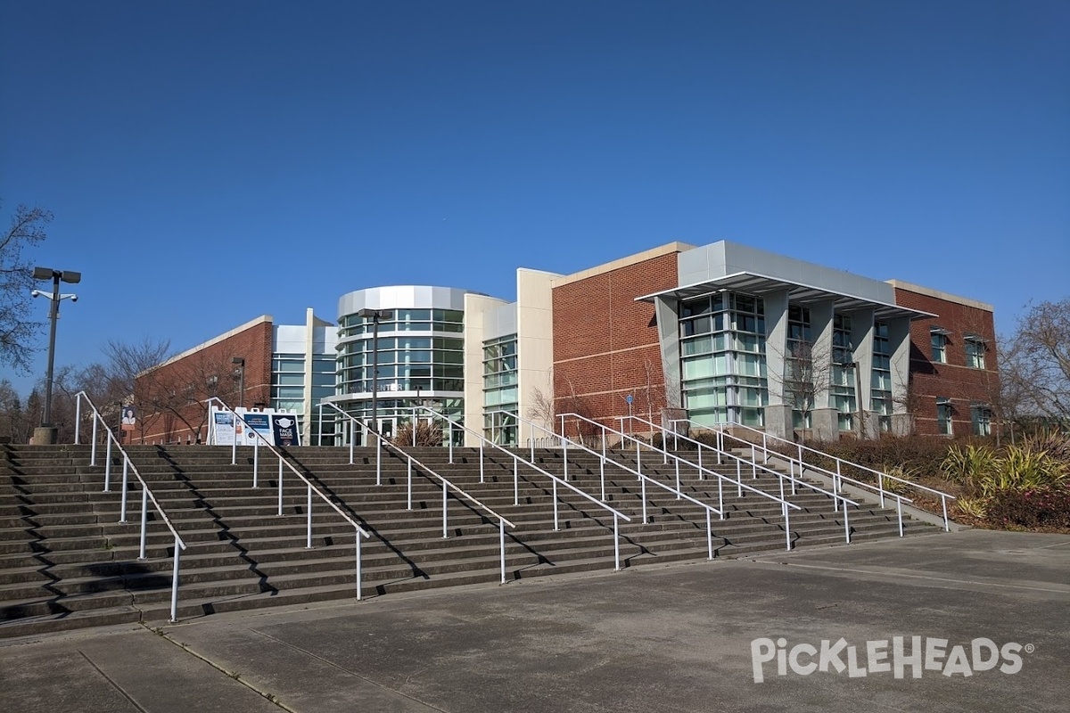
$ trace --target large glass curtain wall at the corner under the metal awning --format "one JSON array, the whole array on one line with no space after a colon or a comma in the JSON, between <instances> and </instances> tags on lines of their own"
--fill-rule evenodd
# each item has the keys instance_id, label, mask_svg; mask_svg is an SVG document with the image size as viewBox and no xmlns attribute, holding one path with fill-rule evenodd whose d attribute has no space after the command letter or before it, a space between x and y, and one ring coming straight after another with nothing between
<instances>
[{"instance_id":1,"label":"large glass curtain wall at the corner under the metal awning","mask_svg":"<svg viewBox=\"0 0 1070 713\"><path fill-rule=\"evenodd\" d=\"M681 305L681 374L688 417L765 424L765 304L719 293Z\"/></svg>"}]
</instances>

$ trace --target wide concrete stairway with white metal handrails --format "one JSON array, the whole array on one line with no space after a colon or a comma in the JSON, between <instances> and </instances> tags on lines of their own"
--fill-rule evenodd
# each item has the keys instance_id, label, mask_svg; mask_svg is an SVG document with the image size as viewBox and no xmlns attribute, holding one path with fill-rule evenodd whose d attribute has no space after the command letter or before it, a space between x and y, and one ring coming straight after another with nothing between
<instances>
[{"instance_id":1,"label":"wide concrete stairway with white metal handrails","mask_svg":"<svg viewBox=\"0 0 1070 713\"><path fill-rule=\"evenodd\" d=\"M147 559L139 560L140 492L132 486L128 523L119 523L121 467L104 493L104 458L91 466L88 446L4 446L0 460L0 637L169 616L173 539L150 511ZM180 619L215 611L302 604L355 596L354 530L319 498L312 502L312 548L306 548L306 487L284 469L282 516L278 462L261 450L259 487L253 489L251 449L204 446L132 447L138 470L187 544L180 574ZM520 466L514 505L511 458L488 449L484 482L477 449L412 449L443 477L516 524L506 530L506 575L611 570L613 518L603 509L559 489L560 529L553 529L551 483ZM521 452L526 458L526 451ZM627 462L629 454L617 454ZM442 536L442 489L417 470L413 509L407 509L407 466L382 459L376 485L374 451L301 448L291 463L331 495L373 539L363 546L363 594L498 582L498 522L453 494L448 538ZM562 453L536 451L538 465L563 471ZM116 460L118 463L118 460ZM656 464L655 464L656 465ZM667 468L643 471L670 482ZM570 452L570 482L599 494L598 461ZM733 469L734 472L734 469ZM626 470L607 467L608 505L632 517L621 523L622 567L707 556L705 511L658 489L647 489L649 523L641 522L640 487ZM779 492L771 476L748 484ZM685 492L717 506L715 481L686 479ZM755 494L724 489L727 518L713 521L718 557L785 546L780 507ZM791 518L794 546L843 542L842 514L820 494L799 492ZM852 509L853 539L898 536L895 511ZM932 530L911 523L907 532Z\"/></svg>"}]
</instances>

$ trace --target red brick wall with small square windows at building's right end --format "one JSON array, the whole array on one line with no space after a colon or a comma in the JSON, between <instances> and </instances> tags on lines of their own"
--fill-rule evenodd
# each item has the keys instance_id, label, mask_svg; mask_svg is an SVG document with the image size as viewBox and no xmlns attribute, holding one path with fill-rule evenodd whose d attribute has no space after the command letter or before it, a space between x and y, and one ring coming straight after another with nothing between
<instances>
[{"instance_id":1,"label":"red brick wall with small square windows at building's right end","mask_svg":"<svg viewBox=\"0 0 1070 713\"><path fill-rule=\"evenodd\" d=\"M951 400L953 434L968 435L972 433L972 403L993 404L999 390L992 312L902 288L896 288L896 304L938 315L911 323L910 405L917 432L928 435L938 433L936 399L943 397ZM951 332L947 337L947 363L932 361L930 327L934 326ZM966 366L964 335L967 332L988 340L983 370Z\"/></svg>"}]
</instances>

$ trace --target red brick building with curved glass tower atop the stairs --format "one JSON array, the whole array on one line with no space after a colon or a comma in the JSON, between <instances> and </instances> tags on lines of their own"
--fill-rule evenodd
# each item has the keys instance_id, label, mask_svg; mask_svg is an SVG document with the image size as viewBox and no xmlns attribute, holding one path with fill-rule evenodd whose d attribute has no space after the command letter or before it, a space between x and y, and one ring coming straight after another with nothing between
<instances>
[{"instance_id":1,"label":"red brick building with curved glass tower atop the stairs","mask_svg":"<svg viewBox=\"0 0 1070 713\"><path fill-rule=\"evenodd\" d=\"M235 357L244 405L296 410L306 443L321 403L374 412L383 432L430 404L505 444L548 437L565 413L789 438L984 435L998 390L991 306L724 241L520 268L511 301L392 285L347 293L333 323L258 317L143 375L165 405L140 409L143 440L203 437L203 401L238 403ZM340 432L333 416L323 432Z\"/></svg>"}]
</instances>

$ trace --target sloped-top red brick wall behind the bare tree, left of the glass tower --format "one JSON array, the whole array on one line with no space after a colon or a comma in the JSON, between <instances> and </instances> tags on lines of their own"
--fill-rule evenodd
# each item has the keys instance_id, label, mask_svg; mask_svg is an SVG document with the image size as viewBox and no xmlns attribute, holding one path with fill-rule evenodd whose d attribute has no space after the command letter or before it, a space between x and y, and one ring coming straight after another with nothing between
<instances>
[{"instance_id":1,"label":"sloped-top red brick wall behind the bare tree, left of the glass tower","mask_svg":"<svg viewBox=\"0 0 1070 713\"><path fill-rule=\"evenodd\" d=\"M204 401L211 396L231 407L251 408L257 402L271 405L272 342L272 322L260 322L138 377L134 392L140 422L131 443L203 438L208 427ZM233 376L238 369L233 357L245 359L244 402ZM217 378L214 389L209 385L212 376Z\"/></svg>"}]
</instances>

